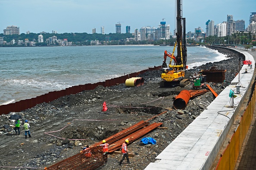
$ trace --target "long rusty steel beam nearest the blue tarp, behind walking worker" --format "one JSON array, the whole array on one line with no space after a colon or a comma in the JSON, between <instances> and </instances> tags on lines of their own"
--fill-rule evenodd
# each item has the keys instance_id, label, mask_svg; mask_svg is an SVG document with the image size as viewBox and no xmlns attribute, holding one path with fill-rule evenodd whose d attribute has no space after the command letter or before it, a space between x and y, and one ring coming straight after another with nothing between
<instances>
[{"instance_id":1,"label":"long rusty steel beam nearest the blue tarp, behind walking worker","mask_svg":"<svg viewBox=\"0 0 256 170\"><path fill-rule=\"evenodd\" d=\"M145 134L149 133L150 131L152 131L156 127L159 127L160 125L162 125L162 123L150 124L149 126L144 127L143 129L140 129L139 131L136 131L133 134L130 134L130 135L116 141L115 142L116 145L113 145L113 146L109 147L109 152L114 152L114 151L120 149L122 144L125 142L126 139L128 139L129 143L131 143L134 140L137 140L138 138L140 138L140 137L144 136Z\"/></svg>"}]
</instances>

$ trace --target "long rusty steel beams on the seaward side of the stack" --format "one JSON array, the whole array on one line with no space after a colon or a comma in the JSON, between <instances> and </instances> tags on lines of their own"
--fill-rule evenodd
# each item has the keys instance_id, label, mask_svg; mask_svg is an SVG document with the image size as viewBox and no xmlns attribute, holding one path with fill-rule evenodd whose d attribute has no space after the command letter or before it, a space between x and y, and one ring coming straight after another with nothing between
<instances>
[{"instance_id":1,"label":"long rusty steel beams on the seaward side of the stack","mask_svg":"<svg viewBox=\"0 0 256 170\"><path fill-rule=\"evenodd\" d=\"M134 131L137 131L138 129L140 129L140 128L148 125L148 124L149 124L149 122L147 122L147 121L140 121L140 122L126 128L125 130L120 131L120 132L106 138L105 139L106 143L109 143L109 145L110 145L110 144L116 142L117 140L123 138L124 136L127 136L127 135L133 133ZM102 144L102 141L99 141L99 142L95 143L91 147L94 147L94 146L97 146L97 145L100 145L100 144Z\"/></svg>"}]
</instances>

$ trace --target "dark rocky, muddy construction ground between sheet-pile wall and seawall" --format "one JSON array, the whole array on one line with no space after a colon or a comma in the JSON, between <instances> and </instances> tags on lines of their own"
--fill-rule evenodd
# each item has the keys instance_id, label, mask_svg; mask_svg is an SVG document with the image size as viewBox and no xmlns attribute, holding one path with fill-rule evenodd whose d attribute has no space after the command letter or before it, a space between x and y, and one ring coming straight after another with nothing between
<instances>
[{"instance_id":1,"label":"dark rocky, muddy construction ground between sheet-pile wall and seawall","mask_svg":"<svg viewBox=\"0 0 256 170\"><path fill-rule=\"evenodd\" d=\"M215 66L226 69L224 83L209 83L219 94L234 79L238 72L239 56L226 49L219 49L229 59L207 63L201 67L187 70L186 78L191 79L200 69ZM159 61L161 64L161 61ZM156 145L144 145L140 140L129 143L128 149L134 153L130 157L131 164L118 165L122 155L108 155L108 163L98 170L143 170L156 156L190 124L214 100L211 92L191 98L184 114L178 114L173 108L174 96L183 89L193 89L191 84L185 88L160 88L161 71L149 71L140 77L144 85L128 88L125 84L104 88L99 86L91 91L83 91L75 95L60 97L50 103L41 103L22 112L11 112L0 116L0 170L26 170L30 167L50 167L56 162L69 158L81 151L84 145L92 145L106 137L116 134L122 128L129 127L141 120L167 111L150 122L162 122L167 129L155 129L144 137L153 137ZM108 110L102 112L103 102ZM172 108L172 110L166 109ZM30 123L31 138L25 140L24 128L16 135L9 120L12 114L22 115L22 124L27 119ZM88 120L90 119L90 120ZM92 121L98 119L117 119L115 121ZM69 126L66 127L68 123ZM65 127L65 128L64 128ZM54 136L45 134L51 132ZM62 139L61 139L62 138ZM63 139L70 143L63 142ZM80 140L79 140L80 139ZM81 140L84 139L84 140ZM125 163L124 161L123 163ZM25 168L27 167L27 168ZM38 168L38 169L39 169Z\"/></svg>"}]
</instances>

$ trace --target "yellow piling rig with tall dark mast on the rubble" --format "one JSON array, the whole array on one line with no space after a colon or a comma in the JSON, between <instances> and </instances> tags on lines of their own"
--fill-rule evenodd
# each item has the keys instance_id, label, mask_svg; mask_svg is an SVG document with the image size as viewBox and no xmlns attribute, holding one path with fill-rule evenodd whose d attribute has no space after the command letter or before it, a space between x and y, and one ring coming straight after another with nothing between
<instances>
[{"instance_id":1,"label":"yellow piling rig with tall dark mast on the rubble","mask_svg":"<svg viewBox=\"0 0 256 170\"><path fill-rule=\"evenodd\" d=\"M181 0L177 0L177 33L176 43L172 54L165 51L164 61L162 63L161 74L162 81L160 87L180 86L185 87L189 84L190 79L184 79L187 67L187 47L186 47L186 19L182 18ZM174 56L175 48L177 46L177 56ZM171 58L169 67L167 67L166 59ZM172 64L172 60L174 61Z\"/></svg>"}]
</instances>

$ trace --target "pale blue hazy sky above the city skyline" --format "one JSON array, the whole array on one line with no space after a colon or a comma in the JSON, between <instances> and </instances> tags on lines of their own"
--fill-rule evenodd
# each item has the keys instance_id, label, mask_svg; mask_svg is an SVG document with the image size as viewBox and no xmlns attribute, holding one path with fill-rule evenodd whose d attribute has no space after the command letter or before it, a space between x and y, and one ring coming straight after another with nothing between
<instances>
[{"instance_id":1,"label":"pale blue hazy sky above the city skyline","mask_svg":"<svg viewBox=\"0 0 256 170\"><path fill-rule=\"evenodd\" d=\"M206 21L215 24L233 19L249 24L250 12L256 12L256 0L182 0L186 32L201 27ZM18 26L20 33L116 33L118 22L131 26L131 33L144 26L158 27L164 18L175 29L176 0L0 0L0 33L7 26Z\"/></svg>"}]
</instances>

